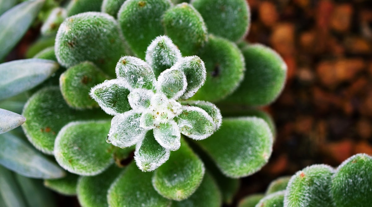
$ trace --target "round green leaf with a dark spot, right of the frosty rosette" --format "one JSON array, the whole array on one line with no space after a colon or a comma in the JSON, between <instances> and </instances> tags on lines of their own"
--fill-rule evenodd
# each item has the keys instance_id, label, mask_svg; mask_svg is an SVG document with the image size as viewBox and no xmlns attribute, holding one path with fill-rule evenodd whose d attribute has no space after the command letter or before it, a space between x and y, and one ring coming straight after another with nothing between
<instances>
[{"instance_id":1,"label":"round green leaf with a dark spot, right of the frosty rosette","mask_svg":"<svg viewBox=\"0 0 372 207\"><path fill-rule=\"evenodd\" d=\"M192 99L219 101L231 94L243 80L246 70L243 54L233 42L209 35L199 56L205 63L207 77Z\"/></svg>"}]
</instances>

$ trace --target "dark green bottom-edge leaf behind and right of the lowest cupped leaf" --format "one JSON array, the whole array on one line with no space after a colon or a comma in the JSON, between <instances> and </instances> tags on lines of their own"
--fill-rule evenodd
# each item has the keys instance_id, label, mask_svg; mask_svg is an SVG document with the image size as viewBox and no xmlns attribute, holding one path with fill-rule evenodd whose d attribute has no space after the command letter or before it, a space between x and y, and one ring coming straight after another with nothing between
<instances>
[{"instance_id":1,"label":"dark green bottom-edge leaf behind and right of the lowest cupped leaf","mask_svg":"<svg viewBox=\"0 0 372 207\"><path fill-rule=\"evenodd\" d=\"M199 188L183 201L173 201L171 207L220 207L221 192L212 176L205 173Z\"/></svg>"}]
</instances>

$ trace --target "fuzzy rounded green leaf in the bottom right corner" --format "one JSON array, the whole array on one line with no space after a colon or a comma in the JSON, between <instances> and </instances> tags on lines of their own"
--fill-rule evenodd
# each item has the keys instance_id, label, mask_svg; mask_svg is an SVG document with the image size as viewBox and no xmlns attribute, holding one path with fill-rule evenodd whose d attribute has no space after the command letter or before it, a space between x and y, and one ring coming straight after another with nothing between
<instances>
[{"instance_id":1,"label":"fuzzy rounded green leaf in the bottom right corner","mask_svg":"<svg viewBox=\"0 0 372 207\"><path fill-rule=\"evenodd\" d=\"M332 176L330 194L336 206L371 206L372 157L357 154L345 160Z\"/></svg>"}]
</instances>

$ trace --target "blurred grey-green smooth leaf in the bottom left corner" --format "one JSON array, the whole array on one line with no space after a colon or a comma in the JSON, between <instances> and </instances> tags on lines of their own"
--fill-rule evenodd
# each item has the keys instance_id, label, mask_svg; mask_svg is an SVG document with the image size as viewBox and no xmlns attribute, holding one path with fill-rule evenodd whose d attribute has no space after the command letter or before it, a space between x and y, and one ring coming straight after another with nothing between
<instances>
[{"instance_id":1,"label":"blurred grey-green smooth leaf in the bottom left corner","mask_svg":"<svg viewBox=\"0 0 372 207\"><path fill-rule=\"evenodd\" d=\"M154 190L155 191L155 190ZM17 181L12 172L0 165L0 200L3 200L4 207L27 207ZM1 202L0 202L1 204ZM3 206L1 206L3 207Z\"/></svg>"}]
</instances>

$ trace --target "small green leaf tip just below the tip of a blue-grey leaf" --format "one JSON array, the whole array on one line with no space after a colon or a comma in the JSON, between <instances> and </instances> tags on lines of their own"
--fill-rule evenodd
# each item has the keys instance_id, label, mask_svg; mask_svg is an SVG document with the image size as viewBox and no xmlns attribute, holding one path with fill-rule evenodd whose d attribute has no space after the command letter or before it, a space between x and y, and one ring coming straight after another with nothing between
<instances>
[{"instance_id":1,"label":"small green leaf tip just below the tip of a blue-grey leaf","mask_svg":"<svg viewBox=\"0 0 372 207\"><path fill-rule=\"evenodd\" d=\"M44 180L44 185L63 195L76 195L78 178L79 175L67 173L64 178Z\"/></svg>"}]
</instances>

